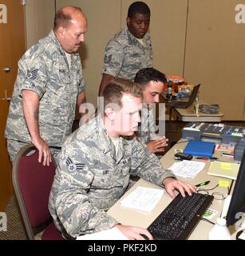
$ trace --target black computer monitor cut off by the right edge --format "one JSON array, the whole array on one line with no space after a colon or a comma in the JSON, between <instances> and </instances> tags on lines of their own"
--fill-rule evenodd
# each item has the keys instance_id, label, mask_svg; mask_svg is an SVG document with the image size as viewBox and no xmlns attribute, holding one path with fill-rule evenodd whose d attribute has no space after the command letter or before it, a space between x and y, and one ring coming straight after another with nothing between
<instances>
[{"instance_id":1,"label":"black computer monitor cut off by the right edge","mask_svg":"<svg viewBox=\"0 0 245 256\"><path fill-rule=\"evenodd\" d=\"M242 213L245 213L245 150L243 151L243 158L227 212L227 226L235 224L242 218Z\"/></svg>"}]
</instances>

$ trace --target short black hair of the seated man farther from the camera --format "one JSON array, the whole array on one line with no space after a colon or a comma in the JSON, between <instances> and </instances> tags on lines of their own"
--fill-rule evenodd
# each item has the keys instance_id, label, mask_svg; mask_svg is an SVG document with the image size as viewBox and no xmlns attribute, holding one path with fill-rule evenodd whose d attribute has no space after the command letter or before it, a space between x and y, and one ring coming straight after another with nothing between
<instances>
[{"instance_id":1,"label":"short black hair of the seated man farther from the camera","mask_svg":"<svg viewBox=\"0 0 245 256\"><path fill-rule=\"evenodd\" d=\"M151 81L165 83L167 82L167 78L165 74L152 67L147 67L139 70L134 78L134 82L140 84L140 86L145 86L148 82Z\"/></svg>"}]
</instances>

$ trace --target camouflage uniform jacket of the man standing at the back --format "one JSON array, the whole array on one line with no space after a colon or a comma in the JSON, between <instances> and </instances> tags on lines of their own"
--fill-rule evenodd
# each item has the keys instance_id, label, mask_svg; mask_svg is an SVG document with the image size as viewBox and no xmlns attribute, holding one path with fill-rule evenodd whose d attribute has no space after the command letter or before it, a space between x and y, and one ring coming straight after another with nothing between
<instances>
[{"instance_id":1,"label":"camouflage uniform jacket of the man standing at the back","mask_svg":"<svg viewBox=\"0 0 245 256\"><path fill-rule=\"evenodd\" d=\"M128 27L117 33L105 47L102 73L133 80L140 69L152 67L150 35L145 34L143 41L144 46L129 32Z\"/></svg>"}]
</instances>

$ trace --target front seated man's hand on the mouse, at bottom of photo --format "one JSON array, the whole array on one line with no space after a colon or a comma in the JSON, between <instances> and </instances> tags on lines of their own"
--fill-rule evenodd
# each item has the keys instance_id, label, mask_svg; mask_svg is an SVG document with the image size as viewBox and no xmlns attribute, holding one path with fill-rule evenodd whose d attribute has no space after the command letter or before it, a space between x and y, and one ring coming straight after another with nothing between
<instances>
[{"instance_id":1,"label":"front seated man's hand on the mouse, at bottom of photo","mask_svg":"<svg viewBox=\"0 0 245 256\"><path fill-rule=\"evenodd\" d=\"M117 226L118 230L120 230L121 233L123 233L129 240L145 240L144 236L146 236L148 240L153 240L153 237L148 230L143 228L136 226L124 226L121 224L117 224L115 226ZM142 236L142 234L144 236Z\"/></svg>"}]
</instances>

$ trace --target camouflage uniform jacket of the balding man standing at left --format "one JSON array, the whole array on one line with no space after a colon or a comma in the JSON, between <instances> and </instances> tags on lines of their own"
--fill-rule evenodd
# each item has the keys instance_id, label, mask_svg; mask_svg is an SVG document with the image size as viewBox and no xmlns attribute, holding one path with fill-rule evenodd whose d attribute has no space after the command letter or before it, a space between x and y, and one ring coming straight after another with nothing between
<instances>
[{"instance_id":1,"label":"camouflage uniform jacket of the balding man standing at left","mask_svg":"<svg viewBox=\"0 0 245 256\"><path fill-rule=\"evenodd\" d=\"M77 95L85 90L79 54L71 54L71 67L53 30L27 50L18 62L18 77L10 103L6 138L30 142L22 110L22 90L39 96L41 138L49 146L61 146L71 134Z\"/></svg>"}]
</instances>

